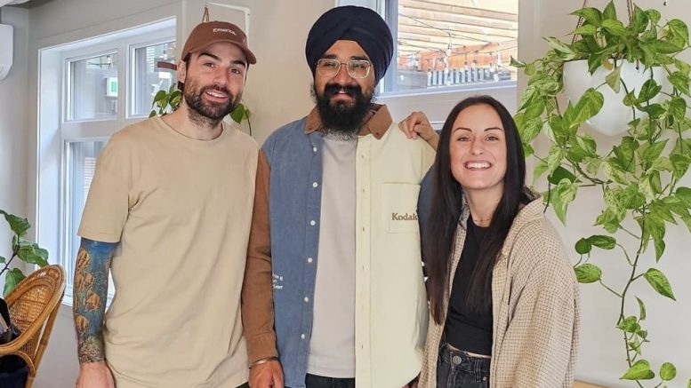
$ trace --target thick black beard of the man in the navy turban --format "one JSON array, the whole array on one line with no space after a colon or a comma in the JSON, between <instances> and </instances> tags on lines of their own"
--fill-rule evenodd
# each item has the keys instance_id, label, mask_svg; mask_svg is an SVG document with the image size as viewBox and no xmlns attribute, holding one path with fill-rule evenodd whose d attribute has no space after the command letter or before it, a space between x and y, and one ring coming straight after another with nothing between
<instances>
[{"instance_id":1,"label":"thick black beard of the man in the navy turban","mask_svg":"<svg viewBox=\"0 0 691 388\"><path fill-rule=\"evenodd\" d=\"M349 105L336 101L332 104L331 99L339 91L345 91L353 97L353 103ZM326 134L336 139L358 139L358 131L374 99L374 90L363 92L360 85L327 83L320 95L312 83L311 92Z\"/></svg>"}]
</instances>

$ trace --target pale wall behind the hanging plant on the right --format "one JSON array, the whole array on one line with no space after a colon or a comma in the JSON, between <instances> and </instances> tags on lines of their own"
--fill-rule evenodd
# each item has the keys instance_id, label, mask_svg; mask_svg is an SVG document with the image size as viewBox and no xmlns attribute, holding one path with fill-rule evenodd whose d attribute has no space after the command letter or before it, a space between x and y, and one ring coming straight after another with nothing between
<instances>
[{"instance_id":1,"label":"pale wall behind the hanging plant on the right","mask_svg":"<svg viewBox=\"0 0 691 388\"><path fill-rule=\"evenodd\" d=\"M542 56L547 49L540 36L558 36L570 41L566 34L574 29L576 18L568 16L583 3L580 1L560 2L554 0L521 0L520 25L530 24L534 31L519 35L521 59L530 60ZM605 0L590 1L591 6L602 9ZM620 17L625 17L625 2L615 1ZM679 18L691 24L691 8L687 1L670 0L669 5L663 6L663 0L636 1L642 9L656 8L663 14L663 20ZM687 53L686 60L691 59ZM522 80L521 84L525 84ZM688 115L688 114L687 114ZM599 150L610 149L613 139L596 137ZM537 148L541 154L546 154L547 148ZM684 182L691 186L691 179ZM566 249L572 252L574 243L583 236L598 234L602 229L591 227L600 212L602 194L598 192L579 193L579 199L569 207L567 222L569 227L558 224L554 217L552 222L566 244ZM553 213L550 210L550 216ZM625 242L625 240L623 240ZM691 364L689 364L688 349L691 349L691 337L688 337L688 321L691 321L691 283L687 281L691 273L691 260L688 256L689 234L685 226L669 227L666 235L667 249L661 262L655 265L655 258L650 252L643 260L643 269L655 265L665 273L671 281L677 302L655 294L645 280L641 280L630 291L631 297L638 296L647 303L647 320L644 325L648 329L650 344L644 347L644 358L650 360L656 368L664 361L671 361L678 368L678 378L668 384L670 387L686 387L691 378ZM652 250L649 249L649 250ZM593 263L600 265L603 278L607 284L621 289L630 267L625 265L621 251L594 252ZM624 272L625 271L625 272ZM618 299L595 284L581 286L583 301L582 348L577 368L577 378L591 383L603 384L611 387L631 387L635 384L623 382L619 377L626 370L623 337L615 329L619 313ZM635 299L632 300L631 314L638 312ZM655 370L657 373L657 370ZM648 386L648 385L646 385ZM652 386L652 385L650 385Z\"/></svg>"}]
</instances>

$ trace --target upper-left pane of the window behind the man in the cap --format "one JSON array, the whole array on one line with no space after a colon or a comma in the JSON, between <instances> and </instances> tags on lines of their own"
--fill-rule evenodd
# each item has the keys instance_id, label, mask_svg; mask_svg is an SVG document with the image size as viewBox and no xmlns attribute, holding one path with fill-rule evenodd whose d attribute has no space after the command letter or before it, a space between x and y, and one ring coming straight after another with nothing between
<instances>
[{"instance_id":1,"label":"upper-left pane of the window behind the man in the cap","mask_svg":"<svg viewBox=\"0 0 691 388\"><path fill-rule=\"evenodd\" d=\"M69 72L69 119L101 119L117 115L117 54L70 61Z\"/></svg>"}]
</instances>

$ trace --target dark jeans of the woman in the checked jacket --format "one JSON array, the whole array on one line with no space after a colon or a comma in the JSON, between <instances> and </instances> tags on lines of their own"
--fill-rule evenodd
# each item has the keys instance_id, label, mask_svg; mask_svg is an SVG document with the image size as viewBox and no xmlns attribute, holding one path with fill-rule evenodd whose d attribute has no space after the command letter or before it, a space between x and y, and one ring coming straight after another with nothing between
<instances>
[{"instance_id":1,"label":"dark jeans of the woman in the checked jacket","mask_svg":"<svg viewBox=\"0 0 691 388\"><path fill-rule=\"evenodd\" d=\"M439 347L437 388L489 388L490 359L472 357L468 352Z\"/></svg>"}]
</instances>

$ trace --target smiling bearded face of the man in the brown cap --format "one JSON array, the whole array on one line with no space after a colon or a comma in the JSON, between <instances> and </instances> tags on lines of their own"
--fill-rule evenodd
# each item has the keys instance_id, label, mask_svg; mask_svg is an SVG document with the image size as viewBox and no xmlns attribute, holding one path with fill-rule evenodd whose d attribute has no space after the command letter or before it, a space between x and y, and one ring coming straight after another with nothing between
<instances>
[{"instance_id":1,"label":"smiling bearded face of the man in the brown cap","mask_svg":"<svg viewBox=\"0 0 691 388\"><path fill-rule=\"evenodd\" d=\"M184 101L190 117L220 122L242 98L247 59L235 44L210 44L181 62L178 79L185 83Z\"/></svg>"}]
</instances>

